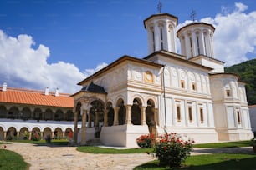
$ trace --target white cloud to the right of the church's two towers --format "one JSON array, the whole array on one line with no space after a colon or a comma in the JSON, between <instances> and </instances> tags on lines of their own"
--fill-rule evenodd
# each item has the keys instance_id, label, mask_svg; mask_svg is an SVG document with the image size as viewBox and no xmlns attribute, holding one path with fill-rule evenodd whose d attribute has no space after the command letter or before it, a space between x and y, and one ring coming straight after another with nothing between
<instances>
[{"instance_id":1,"label":"white cloud to the right of the church's two towers","mask_svg":"<svg viewBox=\"0 0 256 170\"><path fill-rule=\"evenodd\" d=\"M202 18L201 22L212 23L214 32L215 57L226 66L248 60L249 53L255 54L256 12L245 13L248 9L243 3L235 7L222 7L222 13L215 18Z\"/></svg>"}]
</instances>

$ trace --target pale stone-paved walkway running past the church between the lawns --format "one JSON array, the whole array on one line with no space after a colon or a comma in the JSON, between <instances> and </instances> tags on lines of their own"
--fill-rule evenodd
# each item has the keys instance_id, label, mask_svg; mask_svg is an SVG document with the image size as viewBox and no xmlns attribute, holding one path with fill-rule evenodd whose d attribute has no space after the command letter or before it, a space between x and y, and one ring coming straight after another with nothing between
<instances>
[{"instance_id":1,"label":"pale stone-paved walkway running past the church between the lawns","mask_svg":"<svg viewBox=\"0 0 256 170\"><path fill-rule=\"evenodd\" d=\"M91 154L76 151L75 147L51 147L30 143L12 143L7 149L19 153L30 170L130 170L136 166L154 160L146 153L136 154ZM192 155L210 153L253 153L253 148L195 148Z\"/></svg>"}]
</instances>

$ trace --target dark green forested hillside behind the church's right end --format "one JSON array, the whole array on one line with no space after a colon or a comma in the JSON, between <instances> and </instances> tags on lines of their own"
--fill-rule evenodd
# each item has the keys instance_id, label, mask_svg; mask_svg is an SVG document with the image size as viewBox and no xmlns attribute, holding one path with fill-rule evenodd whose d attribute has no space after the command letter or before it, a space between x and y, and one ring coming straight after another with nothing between
<instances>
[{"instance_id":1,"label":"dark green forested hillside behind the church's right end","mask_svg":"<svg viewBox=\"0 0 256 170\"><path fill-rule=\"evenodd\" d=\"M238 74L240 81L247 83L248 105L256 104L256 59L225 67L225 72Z\"/></svg>"}]
</instances>

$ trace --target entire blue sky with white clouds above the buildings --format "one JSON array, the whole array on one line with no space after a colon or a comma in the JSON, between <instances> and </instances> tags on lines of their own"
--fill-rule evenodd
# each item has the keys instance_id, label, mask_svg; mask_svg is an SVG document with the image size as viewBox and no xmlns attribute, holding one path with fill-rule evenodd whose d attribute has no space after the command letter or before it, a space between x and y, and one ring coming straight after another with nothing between
<instances>
[{"instance_id":1,"label":"entire blue sky with white clouds above the buildings","mask_svg":"<svg viewBox=\"0 0 256 170\"><path fill-rule=\"evenodd\" d=\"M77 82L125 54L146 57L143 20L158 13L158 2L1 0L0 83L75 92ZM215 57L227 65L255 58L254 0L161 3L161 13L178 17L178 28L191 21L192 10L197 21L212 23L216 27Z\"/></svg>"}]
</instances>

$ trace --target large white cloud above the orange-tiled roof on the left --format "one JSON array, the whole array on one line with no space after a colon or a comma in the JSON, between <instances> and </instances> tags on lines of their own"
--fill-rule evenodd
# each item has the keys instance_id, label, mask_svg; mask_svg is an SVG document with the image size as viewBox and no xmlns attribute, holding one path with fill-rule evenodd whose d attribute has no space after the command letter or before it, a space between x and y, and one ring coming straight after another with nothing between
<instances>
[{"instance_id":1,"label":"large white cloud above the orange-tiled roof on the left","mask_svg":"<svg viewBox=\"0 0 256 170\"><path fill-rule=\"evenodd\" d=\"M57 62L49 64L49 48L39 45L34 49L33 38L28 35L8 37L0 30L0 77L8 86L76 92L77 82L86 75L74 64Z\"/></svg>"}]
</instances>

